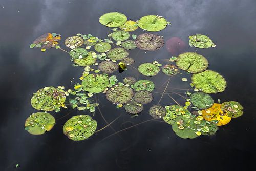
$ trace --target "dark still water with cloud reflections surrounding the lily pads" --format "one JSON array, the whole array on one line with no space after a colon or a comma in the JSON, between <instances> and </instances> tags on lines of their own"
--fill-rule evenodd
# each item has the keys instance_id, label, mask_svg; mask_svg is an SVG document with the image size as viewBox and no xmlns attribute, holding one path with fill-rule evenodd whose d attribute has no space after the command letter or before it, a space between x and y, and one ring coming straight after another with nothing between
<instances>
[{"instance_id":1,"label":"dark still water with cloud reflections surrounding the lily pads","mask_svg":"<svg viewBox=\"0 0 256 171\"><path fill-rule=\"evenodd\" d=\"M113 133L110 128L88 140L73 142L62 134L63 124L72 116L88 112L73 111L57 120L52 131L33 136L24 130L25 119L36 112L30 105L32 93L41 87L63 85L72 88L79 81L83 68L73 67L69 55L55 49L40 52L30 43L45 32L56 32L63 40L75 33L91 33L106 37L108 28L98 22L104 13L119 11L132 20L158 14L172 25L158 34L165 40L179 37L185 43L188 35L207 34L216 48L199 49L209 61L209 69L220 72L227 80L227 89L214 95L222 101L239 101L244 115L220 127L214 136L181 139L170 125L147 122ZM245 170L253 165L256 152L255 64L256 64L256 1L0 1L0 170ZM135 34L142 33L137 30ZM186 51L195 51L187 47ZM131 57L136 56L133 50ZM155 52L140 51L137 67L142 62L168 59L166 48ZM132 68L122 74L141 77ZM167 79L163 74L150 78L160 86ZM188 88L181 82L184 75L171 80L171 87ZM189 78L189 75L185 75ZM74 78L74 79L73 79ZM71 80L73 83L70 84ZM162 88L163 89L163 88ZM161 92L163 90L158 90ZM112 127L120 130L151 119L146 112L131 118L124 109L116 109L102 94L100 109L108 122L122 115ZM158 102L154 94L152 104ZM175 97L180 103L182 99ZM161 104L173 104L165 97ZM145 111L150 105L145 105ZM51 112L56 119L67 114ZM98 128L105 126L96 110ZM104 140L103 140L104 139ZM103 141L101 141L103 140ZM18 168L15 168L16 164Z\"/></svg>"}]
</instances>

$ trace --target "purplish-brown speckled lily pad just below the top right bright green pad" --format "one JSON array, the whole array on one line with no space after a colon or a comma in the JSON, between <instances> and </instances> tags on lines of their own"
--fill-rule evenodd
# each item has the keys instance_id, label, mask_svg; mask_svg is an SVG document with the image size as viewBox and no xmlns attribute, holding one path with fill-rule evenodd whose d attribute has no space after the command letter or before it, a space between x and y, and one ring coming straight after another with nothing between
<instances>
[{"instance_id":1,"label":"purplish-brown speckled lily pad just below the top right bright green pad","mask_svg":"<svg viewBox=\"0 0 256 171\"><path fill-rule=\"evenodd\" d=\"M137 36L135 44L139 49L155 51L163 47L163 37L157 34L144 33Z\"/></svg>"}]
</instances>

